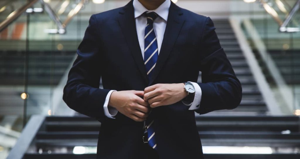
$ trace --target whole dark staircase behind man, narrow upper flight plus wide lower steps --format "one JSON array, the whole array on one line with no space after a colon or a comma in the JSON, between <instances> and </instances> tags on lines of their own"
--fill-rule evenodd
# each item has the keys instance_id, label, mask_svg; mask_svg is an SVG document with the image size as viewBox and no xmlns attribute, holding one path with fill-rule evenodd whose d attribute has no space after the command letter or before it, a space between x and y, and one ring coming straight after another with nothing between
<instances>
[{"instance_id":1,"label":"whole dark staircase behind man, narrow upper flight plus wide lower steps","mask_svg":"<svg viewBox=\"0 0 300 159\"><path fill-rule=\"evenodd\" d=\"M196 115L196 125L205 159L298 159L300 119L297 116L270 116L249 66L227 20L214 20L220 43L241 81L243 98L233 110ZM198 82L201 82L201 73ZM85 116L36 118L33 116L8 159L94 159L101 123ZM30 134L30 135L27 135ZM26 143L21 144L21 143ZM84 146L85 154L74 154ZM209 146L266 147L267 152L206 153ZM222 148L215 148L221 150ZM262 154L259 154L262 153Z\"/></svg>"}]
</instances>

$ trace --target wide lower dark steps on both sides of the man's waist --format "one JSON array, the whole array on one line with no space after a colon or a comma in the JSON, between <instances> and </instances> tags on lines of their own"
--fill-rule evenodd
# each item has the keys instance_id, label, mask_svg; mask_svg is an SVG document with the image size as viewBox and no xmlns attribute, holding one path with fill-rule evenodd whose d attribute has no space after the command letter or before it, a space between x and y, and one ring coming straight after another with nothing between
<instances>
[{"instance_id":1,"label":"wide lower dark steps on both sides of the man's waist","mask_svg":"<svg viewBox=\"0 0 300 159\"><path fill-rule=\"evenodd\" d=\"M31 144L23 156L24 159L96 158L95 149L101 126L100 122L92 118L76 116L46 117L41 123L41 126L36 129L32 127L30 129L25 128L22 132L26 134L27 131L36 130L36 133L32 136ZM196 124L202 146L204 146L204 153L206 146L271 147L269 150L271 152L268 152L270 154L205 153L205 158L208 159L300 158L300 154L286 154L281 150L282 148L291 148L291 151L299 151L300 120L296 116L199 116L196 117ZM84 146L86 153L92 154L73 154L75 146ZM19 147L21 146L19 145ZM16 151L16 148L14 148L12 153Z\"/></svg>"}]
</instances>

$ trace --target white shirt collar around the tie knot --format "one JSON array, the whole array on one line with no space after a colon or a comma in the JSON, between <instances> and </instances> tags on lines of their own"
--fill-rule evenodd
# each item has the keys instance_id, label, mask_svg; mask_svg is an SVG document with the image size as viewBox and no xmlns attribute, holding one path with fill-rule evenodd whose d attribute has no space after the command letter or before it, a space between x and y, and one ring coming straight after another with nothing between
<instances>
[{"instance_id":1,"label":"white shirt collar around the tie knot","mask_svg":"<svg viewBox=\"0 0 300 159\"><path fill-rule=\"evenodd\" d=\"M134 18L137 18L137 17L141 16L146 11L153 11L153 12L157 13L162 19L167 21L168 15L169 15L170 5L171 5L171 0L166 0L166 1L164 1L163 4L161 4L155 10L147 10L147 8L145 8L143 6L143 4L141 4L140 1L133 0Z\"/></svg>"}]
</instances>

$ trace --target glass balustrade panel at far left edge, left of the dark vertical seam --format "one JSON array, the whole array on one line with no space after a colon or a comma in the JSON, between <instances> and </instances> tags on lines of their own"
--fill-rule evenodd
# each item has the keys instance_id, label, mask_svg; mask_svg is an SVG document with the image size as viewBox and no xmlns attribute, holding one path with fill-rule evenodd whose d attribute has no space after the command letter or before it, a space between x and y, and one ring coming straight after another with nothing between
<instances>
[{"instance_id":1,"label":"glass balustrade panel at far left edge, left of the dark vertical seam","mask_svg":"<svg viewBox=\"0 0 300 159\"><path fill-rule=\"evenodd\" d=\"M26 1L0 1L0 22ZM6 158L25 123L27 15L0 32L0 158Z\"/></svg>"}]
</instances>

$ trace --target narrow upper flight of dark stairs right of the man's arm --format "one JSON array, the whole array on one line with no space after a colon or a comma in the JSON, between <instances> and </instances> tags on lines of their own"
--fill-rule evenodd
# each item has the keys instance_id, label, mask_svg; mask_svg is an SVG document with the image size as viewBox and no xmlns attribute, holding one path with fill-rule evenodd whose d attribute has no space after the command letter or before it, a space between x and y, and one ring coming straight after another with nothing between
<instances>
[{"instance_id":1,"label":"narrow upper flight of dark stairs right of the man's arm","mask_svg":"<svg viewBox=\"0 0 300 159\"><path fill-rule=\"evenodd\" d=\"M266 115L268 109L264 99L253 78L241 48L237 42L235 34L226 19L214 19L214 26L219 37L220 44L223 47L227 58L229 59L234 72L242 84L241 104L233 110L218 110L208 115ZM201 82L201 72L198 82Z\"/></svg>"}]
</instances>

